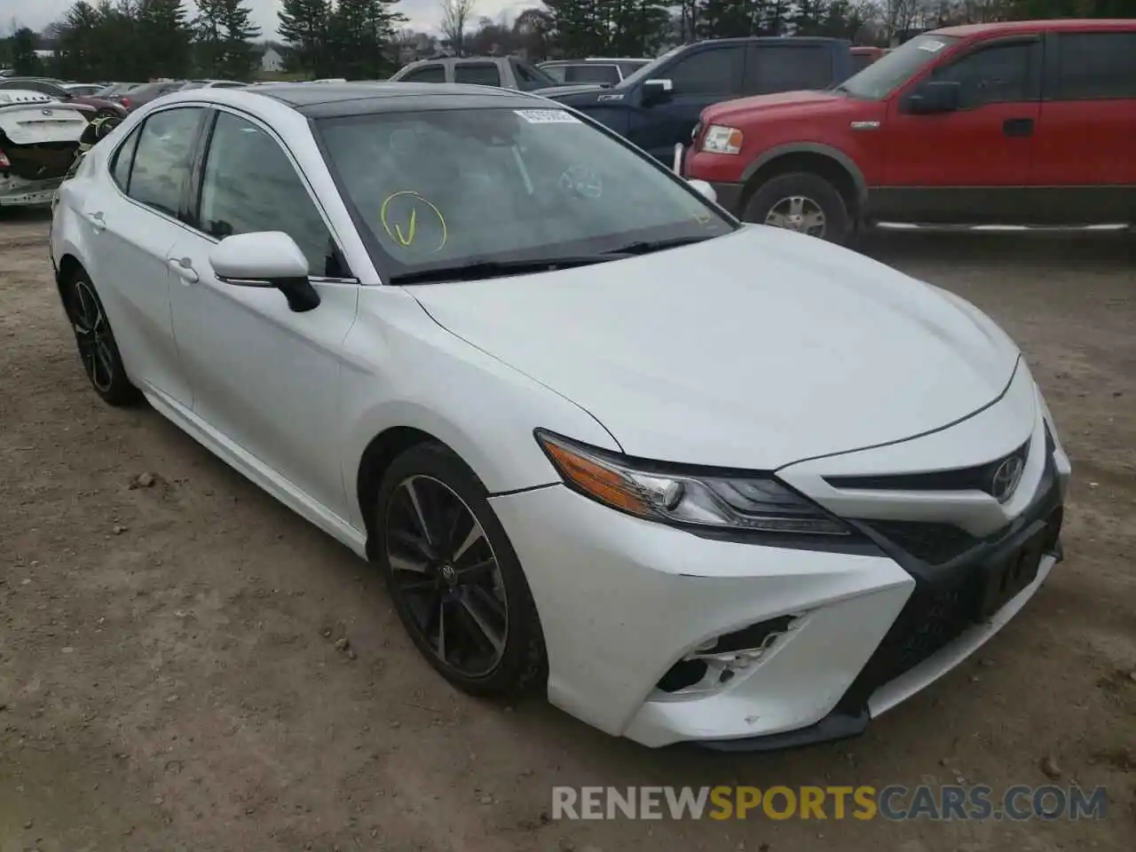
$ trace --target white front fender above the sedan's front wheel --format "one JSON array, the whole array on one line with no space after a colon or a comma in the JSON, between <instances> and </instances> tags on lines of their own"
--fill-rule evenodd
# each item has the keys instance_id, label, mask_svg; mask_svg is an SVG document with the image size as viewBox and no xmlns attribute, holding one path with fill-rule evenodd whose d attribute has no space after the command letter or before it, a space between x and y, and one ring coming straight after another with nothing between
<instances>
[{"instance_id":1,"label":"white front fender above the sedan's front wheel","mask_svg":"<svg viewBox=\"0 0 1136 852\"><path fill-rule=\"evenodd\" d=\"M469 284L468 286L476 286ZM437 325L410 291L365 286L344 341L343 486L387 429L410 427L446 444L491 494L559 482L533 431L544 427L619 451L587 411ZM366 528L357 501L352 525Z\"/></svg>"}]
</instances>

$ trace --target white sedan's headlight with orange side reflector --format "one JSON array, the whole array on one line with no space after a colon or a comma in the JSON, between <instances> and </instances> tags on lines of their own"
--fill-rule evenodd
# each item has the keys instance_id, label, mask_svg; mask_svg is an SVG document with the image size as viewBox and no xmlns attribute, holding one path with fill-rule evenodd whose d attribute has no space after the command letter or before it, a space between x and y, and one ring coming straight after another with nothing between
<instances>
[{"instance_id":1,"label":"white sedan's headlight with orange side reflector","mask_svg":"<svg viewBox=\"0 0 1136 852\"><path fill-rule=\"evenodd\" d=\"M850 529L771 475L683 470L536 431L565 483L646 520L765 533L849 535Z\"/></svg>"}]
</instances>

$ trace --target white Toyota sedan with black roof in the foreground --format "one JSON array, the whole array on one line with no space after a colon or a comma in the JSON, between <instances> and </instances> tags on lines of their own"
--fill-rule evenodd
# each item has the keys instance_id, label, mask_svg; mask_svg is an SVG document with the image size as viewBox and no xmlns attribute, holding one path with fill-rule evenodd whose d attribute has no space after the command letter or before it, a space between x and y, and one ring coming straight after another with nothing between
<instances>
[{"instance_id":1,"label":"white Toyota sedan with black roof in the foreground","mask_svg":"<svg viewBox=\"0 0 1136 852\"><path fill-rule=\"evenodd\" d=\"M59 195L94 390L385 575L461 690L650 746L861 732L1060 558L1013 342L536 97L198 90Z\"/></svg>"}]
</instances>

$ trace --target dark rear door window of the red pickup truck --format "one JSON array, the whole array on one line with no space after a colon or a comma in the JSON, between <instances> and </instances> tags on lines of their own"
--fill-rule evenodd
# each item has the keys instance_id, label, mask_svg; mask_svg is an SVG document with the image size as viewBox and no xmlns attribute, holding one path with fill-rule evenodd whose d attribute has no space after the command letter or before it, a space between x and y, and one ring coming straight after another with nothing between
<instances>
[{"instance_id":1,"label":"dark rear door window of the red pickup truck","mask_svg":"<svg viewBox=\"0 0 1136 852\"><path fill-rule=\"evenodd\" d=\"M1061 33L1051 97L1062 101L1136 98L1136 33Z\"/></svg>"}]
</instances>

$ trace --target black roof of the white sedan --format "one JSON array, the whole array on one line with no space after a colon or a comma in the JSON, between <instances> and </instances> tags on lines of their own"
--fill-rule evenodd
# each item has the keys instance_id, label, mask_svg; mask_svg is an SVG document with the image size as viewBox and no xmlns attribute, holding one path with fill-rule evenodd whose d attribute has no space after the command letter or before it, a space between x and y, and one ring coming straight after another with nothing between
<instances>
[{"instance_id":1,"label":"black roof of the white sedan","mask_svg":"<svg viewBox=\"0 0 1136 852\"><path fill-rule=\"evenodd\" d=\"M199 91L198 97L202 97ZM186 93L189 95L190 93ZM486 109L548 106L548 101L512 89L461 83L275 83L249 89L225 89L204 95L218 103L232 98L272 98L309 118L401 112L416 109Z\"/></svg>"}]
</instances>

